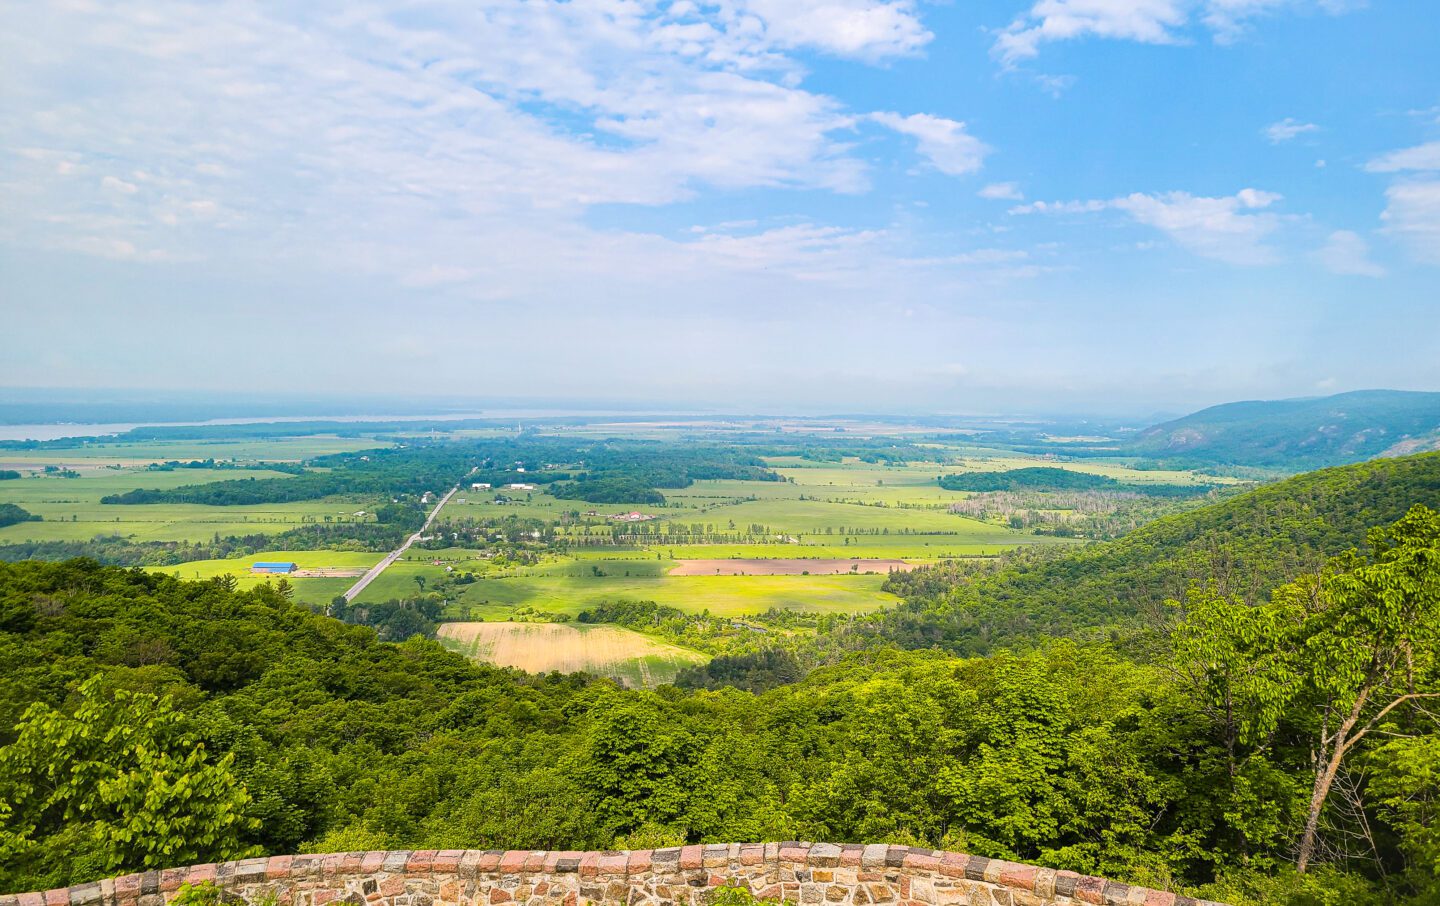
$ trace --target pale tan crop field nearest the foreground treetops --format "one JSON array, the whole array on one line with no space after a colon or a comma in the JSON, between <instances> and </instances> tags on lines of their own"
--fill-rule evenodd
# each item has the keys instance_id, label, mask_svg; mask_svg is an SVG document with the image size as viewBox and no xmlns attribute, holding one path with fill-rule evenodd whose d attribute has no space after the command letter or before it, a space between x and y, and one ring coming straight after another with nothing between
<instances>
[{"instance_id":1,"label":"pale tan crop field nearest the foreground treetops","mask_svg":"<svg viewBox=\"0 0 1440 906\"><path fill-rule=\"evenodd\" d=\"M626 686L670 683L681 668L708 658L619 627L546 622L448 622L441 642L477 661L528 673L589 673Z\"/></svg>"}]
</instances>

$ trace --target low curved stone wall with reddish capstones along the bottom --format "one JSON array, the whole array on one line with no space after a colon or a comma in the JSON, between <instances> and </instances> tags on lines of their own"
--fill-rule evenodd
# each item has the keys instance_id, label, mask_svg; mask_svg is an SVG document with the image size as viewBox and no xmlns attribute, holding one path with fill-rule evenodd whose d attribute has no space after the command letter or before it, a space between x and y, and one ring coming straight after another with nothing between
<instances>
[{"instance_id":1,"label":"low curved stone wall with reddish capstones along the bottom","mask_svg":"<svg viewBox=\"0 0 1440 906\"><path fill-rule=\"evenodd\" d=\"M164 906L186 882L215 882L236 906L706 906L726 884L798 906L1207 906L979 856L829 843L274 856L0 896L0 906Z\"/></svg>"}]
</instances>

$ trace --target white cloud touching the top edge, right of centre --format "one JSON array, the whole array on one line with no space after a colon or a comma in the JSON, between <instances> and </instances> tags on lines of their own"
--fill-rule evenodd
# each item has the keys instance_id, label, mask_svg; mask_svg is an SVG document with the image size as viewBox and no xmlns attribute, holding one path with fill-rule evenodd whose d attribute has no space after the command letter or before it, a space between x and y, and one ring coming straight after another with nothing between
<instances>
[{"instance_id":1,"label":"white cloud touching the top edge, right of centre","mask_svg":"<svg viewBox=\"0 0 1440 906\"><path fill-rule=\"evenodd\" d=\"M1282 10L1351 9L1348 0L1037 0L1002 30L992 53L1007 66L1040 55L1040 46L1077 37L1181 43L1202 24L1217 40L1233 40L1248 19Z\"/></svg>"}]
</instances>

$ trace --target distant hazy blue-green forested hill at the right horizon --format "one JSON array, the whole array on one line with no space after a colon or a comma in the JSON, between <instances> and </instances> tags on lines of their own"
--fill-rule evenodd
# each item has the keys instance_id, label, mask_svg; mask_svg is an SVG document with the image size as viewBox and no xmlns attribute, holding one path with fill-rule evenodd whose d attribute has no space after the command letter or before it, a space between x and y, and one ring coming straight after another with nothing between
<instances>
[{"instance_id":1,"label":"distant hazy blue-green forested hill at the right horizon","mask_svg":"<svg viewBox=\"0 0 1440 906\"><path fill-rule=\"evenodd\" d=\"M1129 452L1176 465L1284 470L1440 448L1440 393L1355 390L1225 403L1140 432Z\"/></svg>"}]
</instances>

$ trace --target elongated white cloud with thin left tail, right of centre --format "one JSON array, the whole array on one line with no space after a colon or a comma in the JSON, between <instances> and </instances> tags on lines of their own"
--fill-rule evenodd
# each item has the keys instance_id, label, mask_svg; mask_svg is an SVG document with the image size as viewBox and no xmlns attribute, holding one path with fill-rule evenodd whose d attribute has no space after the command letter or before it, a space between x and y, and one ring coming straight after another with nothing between
<instances>
[{"instance_id":1,"label":"elongated white cloud with thin left tail, right of centre","mask_svg":"<svg viewBox=\"0 0 1440 906\"><path fill-rule=\"evenodd\" d=\"M1136 223L1166 233L1176 245L1227 264L1263 265L1276 261L1264 245L1279 226L1279 217L1263 209L1280 196L1273 192L1241 189L1233 196L1205 197L1188 192L1164 194L1133 193L1110 200L1032 202L1012 207L1012 213L1079 215L1119 210Z\"/></svg>"}]
</instances>

